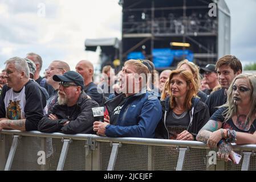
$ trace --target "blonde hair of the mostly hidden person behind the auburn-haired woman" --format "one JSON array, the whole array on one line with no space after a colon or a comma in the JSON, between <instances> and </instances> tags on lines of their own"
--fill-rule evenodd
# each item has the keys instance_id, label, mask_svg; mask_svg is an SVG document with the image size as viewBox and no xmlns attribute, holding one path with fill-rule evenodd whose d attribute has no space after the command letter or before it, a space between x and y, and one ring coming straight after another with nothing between
<instances>
[{"instance_id":1,"label":"blonde hair of the mostly hidden person behind the auburn-haired woman","mask_svg":"<svg viewBox=\"0 0 256 182\"><path fill-rule=\"evenodd\" d=\"M188 65L188 67L191 69L192 71L192 74L193 74L193 77L194 77L194 80L196 82L196 90L198 92L198 90L200 89L200 86L201 86L201 82L200 82L200 75L199 75L199 68L196 64L194 64L193 62L190 62L188 61L187 59L183 60L183 61L180 61L180 63L178 63L177 65L177 69L180 69L180 67L183 65L183 64L186 64Z\"/></svg>"}]
</instances>

